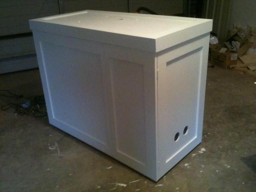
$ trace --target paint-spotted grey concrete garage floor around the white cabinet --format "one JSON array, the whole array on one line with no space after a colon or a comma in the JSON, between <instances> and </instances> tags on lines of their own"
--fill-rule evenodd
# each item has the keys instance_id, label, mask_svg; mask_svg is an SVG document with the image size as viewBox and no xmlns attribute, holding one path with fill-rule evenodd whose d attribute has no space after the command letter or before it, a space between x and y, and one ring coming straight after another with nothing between
<instances>
[{"instance_id":1,"label":"paint-spotted grey concrete garage floor around the white cabinet","mask_svg":"<svg viewBox=\"0 0 256 192\"><path fill-rule=\"evenodd\" d=\"M0 111L0 191L255 192L254 82L237 71L208 68L202 143L157 183L51 126L47 118L14 115L13 108ZM0 89L42 94L39 72L0 75ZM0 97L1 106L7 102ZM49 149L55 143L60 156ZM201 148L206 151L199 153Z\"/></svg>"}]
</instances>

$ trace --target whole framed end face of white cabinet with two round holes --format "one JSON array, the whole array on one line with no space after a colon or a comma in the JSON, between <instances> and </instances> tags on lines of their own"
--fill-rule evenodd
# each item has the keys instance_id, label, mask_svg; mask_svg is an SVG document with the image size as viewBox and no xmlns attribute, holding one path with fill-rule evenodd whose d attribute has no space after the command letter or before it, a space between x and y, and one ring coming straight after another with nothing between
<instances>
[{"instance_id":1,"label":"whole framed end face of white cabinet with two round holes","mask_svg":"<svg viewBox=\"0 0 256 192\"><path fill-rule=\"evenodd\" d=\"M158 145L162 172L201 141L206 38L182 43L158 56Z\"/></svg>"}]
</instances>

